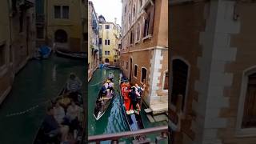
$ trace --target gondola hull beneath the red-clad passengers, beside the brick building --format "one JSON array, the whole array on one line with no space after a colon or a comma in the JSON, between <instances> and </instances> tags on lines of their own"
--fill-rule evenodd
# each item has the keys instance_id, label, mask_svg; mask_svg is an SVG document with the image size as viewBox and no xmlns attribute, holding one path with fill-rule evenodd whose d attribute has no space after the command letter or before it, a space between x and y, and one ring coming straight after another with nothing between
<instances>
[{"instance_id":1,"label":"gondola hull beneath the red-clad passengers, beside the brick building","mask_svg":"<svg viewBox=\"0 0 256 144\"><path fill-rule=\"evenodd\" d=\"M130 128L130 131L134 131L134 130L142 130L144 129L144 125L142 122L142 116L141 116L141 112L139 113L131 113L131 114L127 114L126 113L126 107L125 107L125 103L124 103L124 96L122 94L122 83L123 82L128 82L127 78L123 77L119 79L119 85L120 85L120 101L122 104L122 113L125 115L126 117L126 122ZM142 140L142 139L146 139L146 135L137 135L134 136L134 140Z\"/></svg>"}]
</instances>

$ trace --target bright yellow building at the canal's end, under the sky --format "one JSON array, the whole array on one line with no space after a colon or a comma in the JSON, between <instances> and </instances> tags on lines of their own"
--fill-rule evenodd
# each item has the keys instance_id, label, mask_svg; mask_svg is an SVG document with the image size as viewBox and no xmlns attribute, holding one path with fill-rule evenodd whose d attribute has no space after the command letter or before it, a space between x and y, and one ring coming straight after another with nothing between
<instances>
[{"instance_id":1,"label":"bright yellow building at the canal's end, under the sky","mask_svg":"<svg viewBox=\"0 0 256 144\"><path fill-rule=\"evenodd\" d=\"M99 31L99 42L102 45L102 63L118 65L120 26L113 22L101 22Z\"/></svg>"}]
</instances>

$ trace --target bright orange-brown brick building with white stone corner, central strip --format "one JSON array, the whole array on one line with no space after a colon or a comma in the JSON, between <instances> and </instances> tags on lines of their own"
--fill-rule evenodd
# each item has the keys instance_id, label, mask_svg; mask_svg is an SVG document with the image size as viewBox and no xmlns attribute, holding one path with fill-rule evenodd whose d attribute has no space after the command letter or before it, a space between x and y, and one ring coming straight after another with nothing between
<instances>
[{"instance_id":1,"label":"bright orange-brown brick building with white stone corner, central strip","mask_svg":"<svg viewBox=\"0 0 256 144\"><path fill-rule=\"evenodd\" d=\"M146 84L143 100L153 114L167 111L168 1L122 1L120 67L132 83Z\"/></svg>"}]
</instances>

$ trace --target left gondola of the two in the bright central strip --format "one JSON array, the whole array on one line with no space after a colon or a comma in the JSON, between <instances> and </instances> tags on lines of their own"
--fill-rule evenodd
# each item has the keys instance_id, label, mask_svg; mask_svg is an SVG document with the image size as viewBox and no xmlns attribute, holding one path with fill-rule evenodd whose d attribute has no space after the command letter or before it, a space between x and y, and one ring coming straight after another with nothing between
<instances>
[{"instance_id":1,"label":"left gondola of the two in the bright central strip","mask_svg":"<svg viewBox=\"0 0 256 144\"><path fill-rule=\"evenodd\" d=\"M98 120L99 118L102 117L103 114L105 114L113 98L114 98L114 90L110 98L107 98L105 95L102 94L101 90L99 90L98 97L96 99L95 107L94 107L94 118L96 120Z\"/></svg>"}]
</instances>

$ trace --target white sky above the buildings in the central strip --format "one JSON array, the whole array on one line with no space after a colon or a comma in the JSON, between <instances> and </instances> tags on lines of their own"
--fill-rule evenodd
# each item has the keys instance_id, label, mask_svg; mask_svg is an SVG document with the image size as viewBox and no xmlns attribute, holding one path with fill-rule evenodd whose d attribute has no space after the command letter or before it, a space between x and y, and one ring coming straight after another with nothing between
<instances>
[{"instance_id":1,"label":"white sky above the buildings in the central strip","mask_svg":"<svg viewBox=\"0 0 256 144\"><path fill-rule=\"evenodd\" d=\"M122 0L91 0L94 3L94 9L98 15L102 14L106 22L114 22L122 25Z\"/></svg>"}]
</instances>

